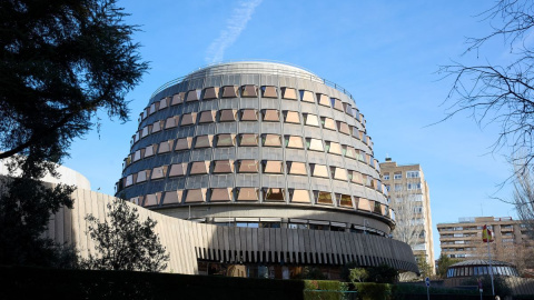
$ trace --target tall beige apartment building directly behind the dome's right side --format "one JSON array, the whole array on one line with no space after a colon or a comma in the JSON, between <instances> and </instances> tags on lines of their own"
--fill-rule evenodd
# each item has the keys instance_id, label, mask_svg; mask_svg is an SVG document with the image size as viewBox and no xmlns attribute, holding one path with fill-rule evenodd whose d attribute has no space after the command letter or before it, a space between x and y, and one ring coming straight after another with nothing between
<instances>
[{"instance_id":1,"label":"tall beige apartment building directly behind the dome's right side","mask_svg":"<svg viewBox=\"0 0 534 300\"><path fill-rule=\"evenodd\" d=\"M412 246L416 259L424 257L435 272L431 196L423 169L417 164L398 166L390 158L380 163L382 180L395 210L394 238Z\"/></svg>"}]
</instances>

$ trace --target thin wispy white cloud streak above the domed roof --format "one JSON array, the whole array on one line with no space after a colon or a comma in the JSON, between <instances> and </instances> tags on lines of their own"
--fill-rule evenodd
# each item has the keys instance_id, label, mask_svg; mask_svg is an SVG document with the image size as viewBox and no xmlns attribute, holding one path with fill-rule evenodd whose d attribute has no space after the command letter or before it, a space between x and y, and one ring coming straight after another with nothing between
<instances>
[{"instance_id":1,"label":"thin wispy white cloud streak above the domed roof","mask_svg":"<svg viewBox=\"0 0 534 300\"><path fill-rule=\"evenodd\" d=\"M234 9L231 17L226 21L226 28L209 44L206 51L206 62L214 63L221 61L225 57L225 50L230 47L247 27L248 21L253 17L254 10L263 0L240 1Z\"/></svg>"}]
</instances>

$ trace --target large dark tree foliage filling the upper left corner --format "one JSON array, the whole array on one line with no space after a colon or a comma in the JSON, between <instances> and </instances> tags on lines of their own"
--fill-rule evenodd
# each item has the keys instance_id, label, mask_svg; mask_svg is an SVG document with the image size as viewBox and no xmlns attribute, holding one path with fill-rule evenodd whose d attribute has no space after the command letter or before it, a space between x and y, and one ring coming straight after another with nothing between
<instances>
[{"instance_id":1,"label":"large dark tree foliage filling the upper left corner","mask_svg":"<svg viewBox=\"0 0 534 300\"><path fill-rule=\"evenodd\" d=\"M128 120L147 63L116 2L0 1L0 159L30 178L53 173L99 109Z\"/></svg>"}]
</instances>

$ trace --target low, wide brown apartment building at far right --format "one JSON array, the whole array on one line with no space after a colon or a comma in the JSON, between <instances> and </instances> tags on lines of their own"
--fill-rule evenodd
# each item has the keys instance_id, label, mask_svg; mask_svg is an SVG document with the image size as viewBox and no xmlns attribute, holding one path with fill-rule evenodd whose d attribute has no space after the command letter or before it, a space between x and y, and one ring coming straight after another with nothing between
<instances>
[{"instance_id":1,"label":"low, wide brown apartment building at far right","mask_svg":"<svg viewBox=\"0 0 534 300\"><path fill-rule=\"evenodd\" d=\"M471 217L459 218L457 223L438 223L442 252L449 258L472 259L487 256L487 244L482 242L482 228L487 226L493 231L492 253L508 261L512 254L522 250L518 246L530 248L526 226L511 217ZM507 251L510 250L510 251ZM508 259L507 259L508 258Z\"/></svg>"}]
</instances>

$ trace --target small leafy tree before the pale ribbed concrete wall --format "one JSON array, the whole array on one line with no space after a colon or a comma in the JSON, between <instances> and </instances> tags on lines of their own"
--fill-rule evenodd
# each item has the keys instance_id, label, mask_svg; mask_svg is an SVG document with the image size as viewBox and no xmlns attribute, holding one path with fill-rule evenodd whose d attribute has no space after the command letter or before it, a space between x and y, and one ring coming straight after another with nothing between
<instances>
[{"instance_id":1,"label":"small leafy tree before the pale ribbed concrete wall","mask_svg":"<svg viewBox=\"0 0 534 300\"><path fill-rule=\"evenodd\" d=\"M81 264L89 269L150 272L167 268L169 256L154 232L157 222L147 218L141 223L137 209L120 199L107 207L103 222L92 214L86 217L98 256L90 253Z\"/></svg>"}]
</instances>

